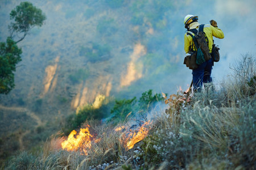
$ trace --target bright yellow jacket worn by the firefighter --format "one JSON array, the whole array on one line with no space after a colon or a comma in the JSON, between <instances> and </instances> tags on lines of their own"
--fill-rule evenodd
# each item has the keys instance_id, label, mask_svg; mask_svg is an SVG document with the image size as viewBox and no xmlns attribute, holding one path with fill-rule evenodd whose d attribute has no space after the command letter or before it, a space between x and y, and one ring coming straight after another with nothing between
<instances>
[{"instance_id":1,"label":"bright yellow jacket worn by the firefighter","mask_svg":"<svg viewBox=\"0 0 256 170\"><path fill-rule=\"evenodd\" d=\"M198 23L192 23L193 25L190 27L190 29L193 29L193 28L197 28L197 31L199 29L199 25ZM195 35L194 33L190 32L192 35ZM209 41L209 44L208 44L208 47L209 47L209 51L210 53L212 53L212 45L213 45L213 36L218 38L218 39L224 39L224 33L221 31L220 28L218 27L213 27L212 25L204 25L204 33L205 35L207 36L208 38L208 41ZM184 35L184 50L186 53L189 52L189 47L192 46L192 37L190 35L187 35L187 32L185 33ZM193 49L195 50L195 44L193 43Z\"/></svg>"}]
</instances>

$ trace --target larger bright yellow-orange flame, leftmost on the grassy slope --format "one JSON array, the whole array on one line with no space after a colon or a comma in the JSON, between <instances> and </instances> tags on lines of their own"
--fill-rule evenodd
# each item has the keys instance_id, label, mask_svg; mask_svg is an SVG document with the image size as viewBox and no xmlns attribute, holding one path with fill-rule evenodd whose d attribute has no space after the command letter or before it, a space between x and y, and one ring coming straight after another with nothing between
<instances>
[{"instance_id":1,"label":"larger bright yellow-orange flame, leftmost on the grassy slope","mask_svg":"<svg viewBox=\"0 0 256 170\"><path fill-rule=\"evenodd\" d=\"M71 131L71 133L68 135L68 139L61 143L61 147L63 148L63 150L67 151L80 150L85 155L87 155L87 150L90 149L90 147L92 146L91 139L93 137L90 134L89 128L81 128L79 134L76 134L76 130Z\"/></svg>"}]
</instances>

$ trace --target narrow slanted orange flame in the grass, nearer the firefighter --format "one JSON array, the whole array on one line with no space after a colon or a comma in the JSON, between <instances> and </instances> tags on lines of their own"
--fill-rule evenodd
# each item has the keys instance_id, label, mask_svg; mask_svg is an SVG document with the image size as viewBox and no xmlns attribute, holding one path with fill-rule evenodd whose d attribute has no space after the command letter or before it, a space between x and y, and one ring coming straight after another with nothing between
<instances>
[{"instance_id":1,"label":"narrow slanted orange flame in the grass, nearer the firefighter","mask_svg":"<svg viewBox=\"0 0 256 170\"><path fill-rule=\"evenodd\" d=\"M128 150L133 148L136 143L138 143L139 141L142 141L142 139L144 139L147 136L147 133L150 130L150 128L146 128L146 126L149 124L150 124L150 121L145 122L139 128L138 132L136 132L137 130L134 130L134 132L131 132L128 134L129 137L131 137L131 139L126 144Z\"/></svg>"}]
</instances>

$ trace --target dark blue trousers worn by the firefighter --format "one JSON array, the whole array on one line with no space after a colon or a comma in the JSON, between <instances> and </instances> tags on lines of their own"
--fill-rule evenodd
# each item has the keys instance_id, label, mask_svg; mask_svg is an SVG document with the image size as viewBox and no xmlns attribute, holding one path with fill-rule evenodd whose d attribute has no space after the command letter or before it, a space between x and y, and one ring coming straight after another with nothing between
<instances>
[{"instance_id":1,"label":"dark blue trousers worn by the firefighter","mask_svg":"<svg viewBox=\"0 0 256 170\"><path fill-rule=\"evenodd\" d=\"M212 82L212 78L210 74L212 73L212 58L208 61L205 61L197 69L192 70L193 75L193 87L196 91L201 91L203 83L210 83Z\"/></svg>"}]
</instances>

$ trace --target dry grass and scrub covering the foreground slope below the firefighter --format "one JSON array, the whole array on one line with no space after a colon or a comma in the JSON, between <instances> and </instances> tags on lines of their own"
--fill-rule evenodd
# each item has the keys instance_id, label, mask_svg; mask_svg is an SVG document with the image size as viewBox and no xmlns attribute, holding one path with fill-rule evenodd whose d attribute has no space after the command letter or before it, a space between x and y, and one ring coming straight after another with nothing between
<instances>
[{"instance_id":1,"label":"dry grass and scrub covering the foreground slope below the firefighter","mask_svg":"<svg viewBox=\"0 0 256 170\"><path fill-rule=\"evenodd\" d=\"M245 56L233 68L233 79L223 82L219 90L202 91L192 98L171 95L167 99L169 108L154 120L147 137L131 150L125 147L122 131L113 131L111 124L89 121L86 123L92 125L96 138L101 140L92 143L88 155L53 150L50 146L54 145L48 142L44 147L47 155L35 159L22 152L10 160L7 169L253 169L256 82L251 84L251 78L255 77L255 66L255 58ZM151 92L143 93L141 104L154 98ZM114 110L121 112L121 106L133 102L135 98L116 101Z\"/></svg>"}]
</instances>

